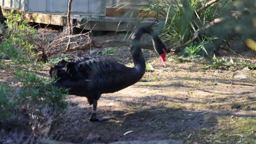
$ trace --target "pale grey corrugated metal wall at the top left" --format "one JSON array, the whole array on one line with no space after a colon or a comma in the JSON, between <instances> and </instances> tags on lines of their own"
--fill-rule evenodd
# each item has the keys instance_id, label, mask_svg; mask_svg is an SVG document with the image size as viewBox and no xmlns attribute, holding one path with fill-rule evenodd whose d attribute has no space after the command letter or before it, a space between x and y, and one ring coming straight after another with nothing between
<instances>
[{"instance_id":1,"label":"pale grey corrugated metal wall at the top left","mask_svg":"<svg viewBox=\"0 0 256 144\"><path fill-rule=\"evenodd\" d=\"M66 13L68 0L0 0L8 8L25 9L29 12ZM105 15L106 1L74 0L72 14Z\"/></svg>"}]
</instances>

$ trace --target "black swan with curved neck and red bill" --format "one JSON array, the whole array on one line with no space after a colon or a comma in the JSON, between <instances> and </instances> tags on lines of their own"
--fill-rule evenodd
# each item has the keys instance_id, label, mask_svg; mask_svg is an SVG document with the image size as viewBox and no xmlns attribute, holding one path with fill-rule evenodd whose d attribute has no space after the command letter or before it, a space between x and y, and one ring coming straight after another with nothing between
<instances>
[{"instance_id":1,"label":"black swan with curved neck and red bill","mask_svg":"<svg viewBox=\"0 0 256 144\"><path fill-rule=\"evenodd\" d=\"M145 73L146 64L140 47L144 33L152 36L155 51L166 65L166 47L158 35L149 26L139 27L132 35L131 54L134 67L113 61L113 59L88 56L77 59L62 60L50 69L50 76L56 77L58 87L69 88L69 94L83 96L93 105L91 121L106 120L96 115L97 100L102 93L113 93L138 82Z\"/></svg>"}]
</instances>

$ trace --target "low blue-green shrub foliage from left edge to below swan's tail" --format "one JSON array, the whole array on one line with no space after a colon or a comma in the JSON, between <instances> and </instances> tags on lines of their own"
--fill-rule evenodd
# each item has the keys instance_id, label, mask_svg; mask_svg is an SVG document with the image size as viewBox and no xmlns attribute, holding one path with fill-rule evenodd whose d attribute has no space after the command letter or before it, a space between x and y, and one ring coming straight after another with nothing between
<instances>
[{"instance_id":1,"label":"low blue-green shrub foliage from left edge to below swan's tail","mask_svg":"<svg viewBox=\"0 0 256 144\"><path fill-rule=\"evenodd\" d=\"M39 118L44 110L63 112L67 108L68 104L64 99L68 89L55 87L52 85L53 80L46 80L32 72L21 70L16 71L16 78L21 85L17 91L5 86L4 83L0 85L1 123L15 119L21 109L26 109L28 114Z\"/></svg>"}]
</instances>

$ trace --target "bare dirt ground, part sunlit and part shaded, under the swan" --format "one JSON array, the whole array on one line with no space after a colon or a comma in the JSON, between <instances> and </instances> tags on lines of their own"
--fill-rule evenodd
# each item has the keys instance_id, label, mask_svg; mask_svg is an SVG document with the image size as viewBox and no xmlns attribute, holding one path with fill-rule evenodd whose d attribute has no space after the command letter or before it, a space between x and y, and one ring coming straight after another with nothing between
<instances>
[{"instance_id":1,"label":"bare dirt ground, part sunlit and part shaded, under the swan","mask_svg":"<svg viewBox=\"0 0 256 144\"><path fill-rule=\"evenodd\" d=\"M38 138L73 143L256 143L255 70L241 70L247 78L233 79L237 71L204 70L200 68L203 64L194 62L167 61L167 67L163 67L154 51L143 53L147 63L155 61L154 69L135 85L103 94L98 100L98 113L112 119L90 122L92 107L87 99L68 95L66 113L50 116L38 129ZM132 63L129 47L117 49L114 56L105 56ZM254 61L255 56L249 58ZM0 71L0 82L15 83L10 71ZM48 69L38 73L48 75ZM32 142L30 134L2 129L0 143Z\"/></svg>"}]
</instances>

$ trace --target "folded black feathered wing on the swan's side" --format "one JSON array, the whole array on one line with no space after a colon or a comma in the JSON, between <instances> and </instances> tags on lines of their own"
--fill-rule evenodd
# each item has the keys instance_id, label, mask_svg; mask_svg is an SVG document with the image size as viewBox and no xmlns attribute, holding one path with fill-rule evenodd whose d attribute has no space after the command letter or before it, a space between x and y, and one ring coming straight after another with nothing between
<instances>
[{"instance_id":1,"label":"folded black feathered wing on the swan's side","mask_svg":"<svg viewBox=\"0 0 256 144\"><path fill-rule=\"evenodd\" d=\"M114 92L134 83L131 81L134 78L132 68L104 57L68 63L67 73L74 86L89 91Z\"/></svg>"}]
</instances>

